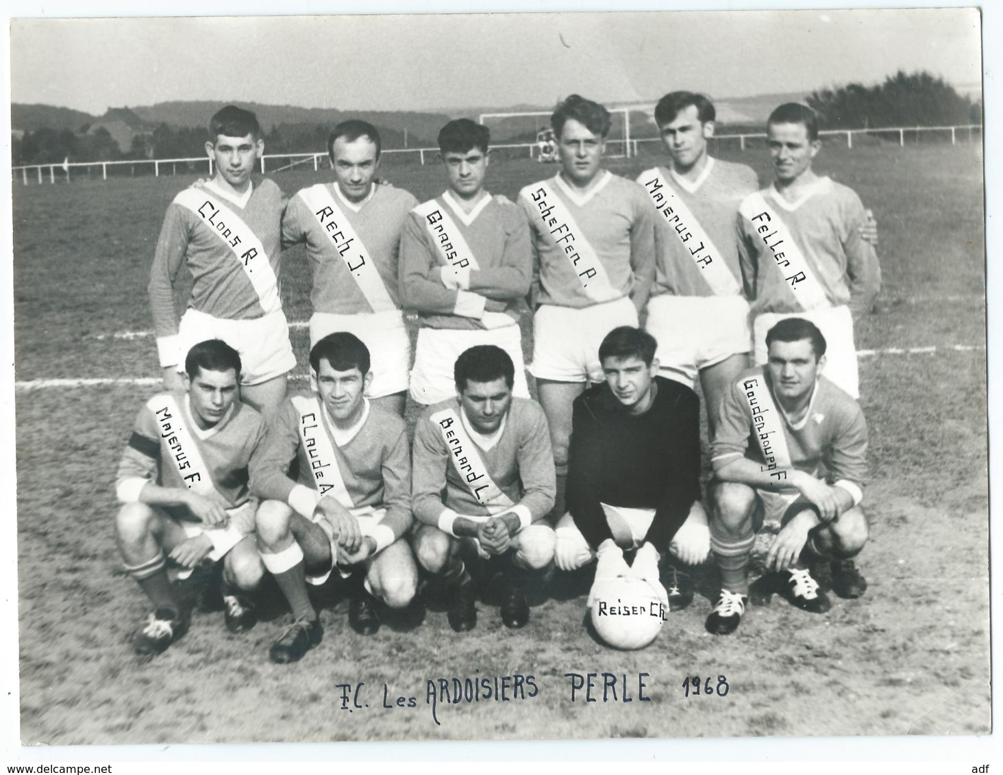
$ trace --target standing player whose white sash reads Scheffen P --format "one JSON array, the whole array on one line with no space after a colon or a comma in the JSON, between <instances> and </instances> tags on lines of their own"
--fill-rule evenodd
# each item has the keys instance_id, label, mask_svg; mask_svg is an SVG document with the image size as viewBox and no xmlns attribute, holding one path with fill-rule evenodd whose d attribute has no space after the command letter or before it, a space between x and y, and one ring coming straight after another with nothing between
<instances>
[{"instance_id":1,"label":"standing player whose white sash reads Scheffen P","mask_svg":"<svg viewBox=\"0 0 1003 775\"><path fill-rule=\"evenodd\" d=\"M572 404L602 382L599 343L638 324L655 273L655 212L644 191L603 169L610 113L572 94L551 116L557 175L520 192L533 237L533 365L557 467L556 514L564 512Z\"/></svg>"}]
</instances>

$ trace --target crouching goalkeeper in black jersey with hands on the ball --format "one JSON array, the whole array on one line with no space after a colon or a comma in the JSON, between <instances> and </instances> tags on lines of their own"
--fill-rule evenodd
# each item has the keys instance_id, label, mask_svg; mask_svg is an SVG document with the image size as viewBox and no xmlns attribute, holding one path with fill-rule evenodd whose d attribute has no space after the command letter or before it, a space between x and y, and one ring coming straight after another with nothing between
<instances>
[{"instance_id":1,"label":"crouching goalkeeper in black jersey with hands on the ball","mask_svg":"<svg viewBox=\"0 0 1003 775\"><path fill-rule=\"evenodd\" d=\"M597 582L630 574L654 586L669 553L667 603L676 611L693 600L684 567L707 558L710 534L699 500L700 399L658 376L657 347L631 326L599 347L605 381L572 411L569 513L558 523L556 556L562 570L598 557ZM636 551L630 566L625 550Z\"/></svg>"}]
</instances>

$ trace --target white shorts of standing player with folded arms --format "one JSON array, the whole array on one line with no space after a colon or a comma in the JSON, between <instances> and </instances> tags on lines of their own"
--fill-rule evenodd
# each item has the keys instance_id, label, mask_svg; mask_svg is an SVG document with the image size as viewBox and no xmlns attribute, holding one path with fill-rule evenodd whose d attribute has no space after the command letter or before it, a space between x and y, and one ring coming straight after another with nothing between
<instances>
[{"instance_id":1,"label":"white shorts of standing player with folded arms","mask_svg":"<svg viewBox=\"0 0 1003 775\"><path fill-rule=\"evenodd\" d=\"M453 366L465 350L476 345L495 345L512 358L516 379L512 394L529 398L523 365L523 333L518 325L487 330L421 328L414 346L414 368L411 369L411 398L429 406L456 395Z\"/></svg>"}]
</instances>

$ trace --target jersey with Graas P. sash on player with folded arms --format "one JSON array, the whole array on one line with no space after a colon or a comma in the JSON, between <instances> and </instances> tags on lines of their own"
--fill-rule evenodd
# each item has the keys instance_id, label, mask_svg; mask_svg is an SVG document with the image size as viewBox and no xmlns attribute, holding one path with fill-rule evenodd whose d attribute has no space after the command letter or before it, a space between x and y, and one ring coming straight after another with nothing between
<instances>
[{"instance_id":1,"label":"jersey with Graas P. sash on player with folded arms","mask_svg":"<svg viewBox=\"0 0 1003 775\"><path fill-rule=\"evenodd\" d=\"M412 211L404 224L403 306L418 313L422 327L469 330L484 328L480 318L486 300L492 300L500 302L497 311L518 323L517 303L529 292L533 275L531 251L529 225L517 206L485 193L466 214L446 191ZM469 269L469 286L446 288L440 279L443 269ZM483 301L469 299L470 294ZM492 311L490 305L487 309Z\"/></svg>"}]
</instances>

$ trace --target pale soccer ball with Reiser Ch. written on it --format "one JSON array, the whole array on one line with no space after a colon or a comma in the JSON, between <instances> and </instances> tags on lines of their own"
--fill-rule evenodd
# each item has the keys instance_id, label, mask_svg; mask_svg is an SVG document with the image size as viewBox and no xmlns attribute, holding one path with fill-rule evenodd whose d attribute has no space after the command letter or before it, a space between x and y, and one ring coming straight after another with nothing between
<instances>
[{"instance_id":1,"label":"pale soccer ball with Reiser Ch. written on it","mask_svg":"<svg viewBox=\"0 0 1003 775\"><path fill-rule=\"evenodd\" d=\"M621 576L596 582L593 594L592 626L607 646L643 649L658 637L668 615L664 591L660 595L643 578Z\"/></svg>"}]
</instances>

